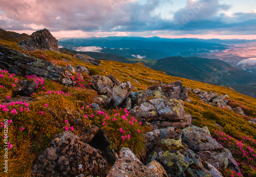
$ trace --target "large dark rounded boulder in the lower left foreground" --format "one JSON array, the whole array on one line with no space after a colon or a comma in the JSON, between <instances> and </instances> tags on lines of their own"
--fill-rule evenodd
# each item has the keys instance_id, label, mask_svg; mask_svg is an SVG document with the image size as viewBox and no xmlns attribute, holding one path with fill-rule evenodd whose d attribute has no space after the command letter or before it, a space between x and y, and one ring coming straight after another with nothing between
<instances>
[{"instance_id":1,"label":"large dark rounded boulder in the lower left foreground","mask_svg":"<svg viewBox=\"0 0 256 177\"><path fill-rule=\"evenodd\" d=\"M69 131L56 135L36 157L32 173L44 176L76 176L87 173L104 176L108 163L101 151L81 142Z\"/></svg>"}]
</instances>

